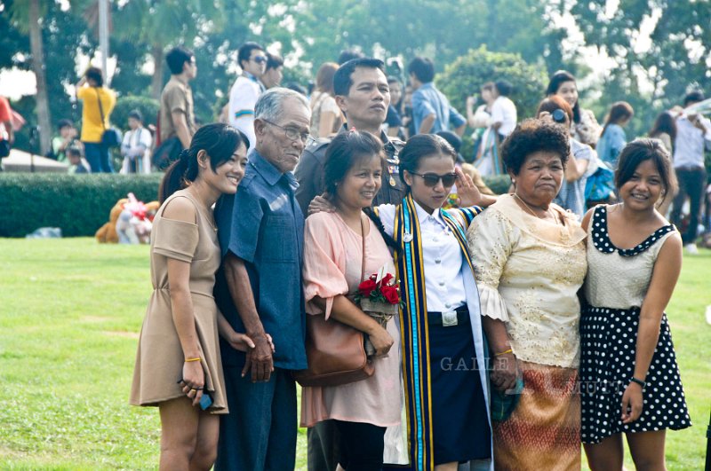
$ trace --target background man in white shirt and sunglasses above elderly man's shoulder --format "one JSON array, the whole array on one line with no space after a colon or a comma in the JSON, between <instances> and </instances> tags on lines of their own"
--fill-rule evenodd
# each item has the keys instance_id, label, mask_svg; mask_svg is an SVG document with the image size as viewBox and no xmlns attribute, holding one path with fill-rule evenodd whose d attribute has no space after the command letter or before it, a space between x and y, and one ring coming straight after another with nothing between
<instances>
[{"instance_id":1,"label":"background man in white shirt and sunglasses above elderly man's shoulder","mask_svg":"<svg viewBox=\"0 0 711 471\"><path fill-rule=\"evenodd\" d=\"M229 91L228 121L249 138L251 149L256 142L254 105L265 90L260 77L267 69L267 60L267 53L260 44L244 43L237 52L237 62L242 68L242 75L237 77L232 90Z\"/></svg>"}]
</instances>

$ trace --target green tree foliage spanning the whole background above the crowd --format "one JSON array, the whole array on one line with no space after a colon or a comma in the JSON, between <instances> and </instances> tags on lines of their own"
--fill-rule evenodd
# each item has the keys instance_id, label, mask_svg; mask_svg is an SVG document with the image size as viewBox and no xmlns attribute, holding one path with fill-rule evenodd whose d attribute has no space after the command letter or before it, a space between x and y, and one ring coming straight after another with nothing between
<instances>
[{"instance_id":1,"label":"green tree foliage spanning the whole background above the crowd","mask_svg":"<svg viewBox=\"0 0 711 471\"><path fill-rule=\"evenodd\" d=\"M27 4L0 0L0 68L31 69L22 23ZM52 121L68 117L78 122L79 110L66 87L76 82L77 55L92 58L97 50L93 16L87 14L96 1L40 4ZM111 2L111 52L117 59L111 85L121 96L156 98L169 75L164 51L185 44L196 52L198 74L191 84L196 116L212 121L236 79L238 47L257 41L287 59L284 82L305 82L321 63L335 60L348 48L380 59L400 57L404 66L414 56L425 55L435 60L439 72L445 71L440 80L456 75L459 68L472 74L471 80L455 80L466 88L447 90L452 102L463 107L464 96L475 92L484 76L519 76L505 67L508 59L490 56L515 53L531 65L527 67L535 67L531 85L515 83L518 90L527 90L515 97L523 104L522 115L531 113L528 100L542 96L542 88L533 90L533 85L545 86L539 76L566 68L581 82L591 73L602 76L595 90L583 87L584 104L602 119L611 102L629 101L636 110L631 134L640 134L660 109L678 103L692 83L707 90L711 86L711 1L619 0L614 5L590 0L122 0ZM6 14L10 11L12 16ZM571 35L555 22L556 15L573 18L584 37L579 45L595 46L614 67L600 74L600 64L586 63L577 49L566 50ZM651 40L646 48L645 32ZM479 49L482 45L484 50ZM483 68L464 65L470 51L479 51L475 54L485 59ZM599 100L588 99L588 91ZM30 101L25 98L20 106ZM26 118L36 123L32 114ZM18 139L27 141L21 135Z\"/></svg>"}]
</instances>

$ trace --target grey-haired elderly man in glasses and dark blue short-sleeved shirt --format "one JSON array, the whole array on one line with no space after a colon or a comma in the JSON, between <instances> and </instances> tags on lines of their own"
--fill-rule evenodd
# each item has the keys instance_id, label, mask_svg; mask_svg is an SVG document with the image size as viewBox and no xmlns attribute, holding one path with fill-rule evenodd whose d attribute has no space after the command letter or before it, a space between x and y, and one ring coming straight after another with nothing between
<instances>
[{"instance_id":1,"label":"grey-haired elderly man in glasses and dark blue short-sleeved shirt","mask_svg":"<svg viewBox=\"0 0 711 471\"><path fill-rule=\"evenodd\" d=\"M220 344L230 414L220 422L215 469L293 469L296 385L307 368L301 287L304 216L292 174L309 139L311 112L299 93L276 87L255 106L256 147L235 195L215 208L222 268L215 298L246 353ZM269 337L271 335L271 338Z\"/></svg>"}]
</instances>

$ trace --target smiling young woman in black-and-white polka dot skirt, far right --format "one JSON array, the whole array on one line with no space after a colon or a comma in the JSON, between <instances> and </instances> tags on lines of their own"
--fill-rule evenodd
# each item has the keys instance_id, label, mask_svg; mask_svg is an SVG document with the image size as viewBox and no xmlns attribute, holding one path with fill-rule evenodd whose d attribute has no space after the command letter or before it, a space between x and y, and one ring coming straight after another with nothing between
<instances>
[{"instance_id":1,"label":"smiling young woman in black-and-white polka dot skirt, far right","mask_svg":"<svg viewBox=\"0 0 711 471\"><path fill-rule=\"evenodd\" d=\"M655 208L674 194L669 154L657 140L635 140L620 153L615 184L621 202L583 219L581 438L593 471L622 469L623 432L637 468L664 469L666 429L691 426L664 313L682 238Z\"/></svg>"}]
</instances>

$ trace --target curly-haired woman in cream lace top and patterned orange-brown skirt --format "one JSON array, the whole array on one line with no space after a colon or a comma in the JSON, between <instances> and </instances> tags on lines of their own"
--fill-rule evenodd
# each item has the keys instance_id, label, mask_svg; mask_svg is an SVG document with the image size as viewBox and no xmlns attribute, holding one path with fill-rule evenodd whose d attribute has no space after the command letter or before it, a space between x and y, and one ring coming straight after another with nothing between
<instances>
[{"instance_id":1,"label":"curly-haired woman in cream lace top and patterned orange-brown skirt","mask_svg":"<svg viewBox=\"0 0 711 471\"><path fill-rule=\"evenodd\" d=\"M568 136L527 120L501 151L515 192L475 217L467 234L491 384L504 393L523 378L515 409L493 425L496 469L579 469L576 293L587 271L586 234L575 215L553 203Z\"/></svg>"}]
</instances>

